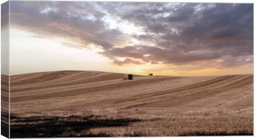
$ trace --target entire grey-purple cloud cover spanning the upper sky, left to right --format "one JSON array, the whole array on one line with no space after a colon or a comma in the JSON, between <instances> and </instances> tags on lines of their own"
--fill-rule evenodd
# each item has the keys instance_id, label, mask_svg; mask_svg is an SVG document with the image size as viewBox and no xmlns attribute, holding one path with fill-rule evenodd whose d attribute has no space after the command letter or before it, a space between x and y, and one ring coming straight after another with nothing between
<instances>
[{"instance_id":1,"label":"entire grey-purple cloud cover spanning the upper sky, left to right","mask_svg":"<svg viewBox=\"0 0 256 139\"><path fill-rule=\"evenodd\" d=\"M223 67L252 63L252 4L12 1L11 7L16 27L95 44L116 65L216 59L224 60L218 65ZM142 34L130 37L142 45L121 45L131 38L119 28L110 29L105 16L141 28Z\"/></svg>"}]
</instances>

